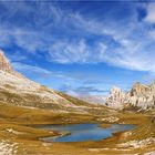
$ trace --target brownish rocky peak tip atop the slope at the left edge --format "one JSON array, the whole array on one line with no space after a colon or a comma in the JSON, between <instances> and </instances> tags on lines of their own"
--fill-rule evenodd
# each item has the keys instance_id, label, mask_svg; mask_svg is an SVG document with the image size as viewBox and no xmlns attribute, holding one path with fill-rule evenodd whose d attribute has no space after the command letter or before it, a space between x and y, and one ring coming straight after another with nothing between
<instances>
[{"instance_id":1,"label":"brownish rocky peak tip atop the slope at the left edge","mask_svg":"<svg viewBox=\"0 0 155 155\"><path fill-rule=\"evenodd\" d=\"M7 59L2 50L0 50L0 70L7 71L9 73L13 71L10 61Z\"/></svg>"}]
</instances>

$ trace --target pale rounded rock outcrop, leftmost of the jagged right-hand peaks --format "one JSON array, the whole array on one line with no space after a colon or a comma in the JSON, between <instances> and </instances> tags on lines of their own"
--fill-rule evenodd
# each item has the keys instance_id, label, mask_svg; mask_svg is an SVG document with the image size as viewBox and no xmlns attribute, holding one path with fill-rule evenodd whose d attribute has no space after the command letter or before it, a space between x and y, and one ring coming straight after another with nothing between
<instances>
[{"instance_id":1,"label":"pale rounded rock outcrop, leftmost of the jagged right-hand peaks","mask_svg":"<svg viewBox=\"0 0 155 155\"><path fill-rule=\"evenodd\" d=\"M105 101L105 105L113 108L123 108L125 99L126 94L120 87L114 86Z\"/></svg>"}]
</instances>

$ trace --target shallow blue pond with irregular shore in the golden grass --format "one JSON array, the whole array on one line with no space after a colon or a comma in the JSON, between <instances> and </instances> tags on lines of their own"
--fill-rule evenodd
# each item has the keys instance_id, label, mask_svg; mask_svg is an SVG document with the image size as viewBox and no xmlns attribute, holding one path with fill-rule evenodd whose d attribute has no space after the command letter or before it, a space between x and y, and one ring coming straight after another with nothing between
<instances>
[{"instance_id":1,"label":"shallow blue pond with irregular shore in the golden grass","mask_svg":"<svg viewBox=\"0 0 155 155\"><path fill-rule=\"evenodd\" d=\"M113 136L113 133L133 130L135 125L112 124L108 128L100 127L100 124L44 125L40 127L71 133L70 135L43 138L46 142L82 142L107 138Z\"/></svg>"}]
</instances>

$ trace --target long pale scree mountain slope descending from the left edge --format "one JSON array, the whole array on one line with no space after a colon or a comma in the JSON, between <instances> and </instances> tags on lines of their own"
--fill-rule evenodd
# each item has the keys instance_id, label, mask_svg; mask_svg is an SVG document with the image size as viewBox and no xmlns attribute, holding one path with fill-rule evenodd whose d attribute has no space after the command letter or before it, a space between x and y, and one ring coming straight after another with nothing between
<instances>
[{"instance_id":1,"label":"long pale scree mountain slope descending from the left edge","mask_svg":"<svg viewBox=\"0 0 155 155\"><path fill-rule=\"evenodd\" d=\"M14 71L0 51L0 103L85 113L86 102L35 83ZM79 108L78 108L79 107Z\"/></svg>"}]
</instances>

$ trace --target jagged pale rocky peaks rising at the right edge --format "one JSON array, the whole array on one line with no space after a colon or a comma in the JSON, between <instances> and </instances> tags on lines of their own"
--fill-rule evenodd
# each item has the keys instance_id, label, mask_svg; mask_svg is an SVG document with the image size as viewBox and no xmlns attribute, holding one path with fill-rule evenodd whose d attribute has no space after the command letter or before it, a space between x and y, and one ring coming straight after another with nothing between
<instances>
[{"instance_id":1,"label":"jagged pale rocky peaks rising at the right edge","mask_svg":"<svg viewBox=\"0 0 155 155\"><path fill-rule=\"evenodd\" d=\"M140 110L155 108L155 82L148 85L137 82L128 92L113 87L105 104L114 108L125 108L126 106Z\"/></svg>"}]
</instances>

